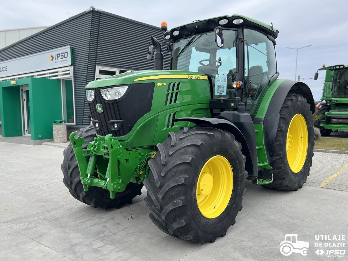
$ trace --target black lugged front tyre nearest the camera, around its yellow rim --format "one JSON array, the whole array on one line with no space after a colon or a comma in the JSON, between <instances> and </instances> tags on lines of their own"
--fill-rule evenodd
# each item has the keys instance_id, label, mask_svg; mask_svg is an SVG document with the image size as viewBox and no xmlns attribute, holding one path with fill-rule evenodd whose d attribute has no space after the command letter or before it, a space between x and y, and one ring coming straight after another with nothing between
<instances>
[{"instance_id":1,"label":"black lugged front tyre nearest the camera, around its yellow rim","mask_svg":"<svg viewBox=\"0 0 348 261\"><path fill-rule=\"evenodd\" d=\"M183 127L176 133L168 133L168 139L157 144L157 148L156 157L148 162L149 177L144 181L148 190L145 203L151 212L152 222L169 235L199 244L214 242L217 237L226 235L242 209L247 176L244 165L246 158L234 135L209 127ZM227 200L226 205L222 207L222 204L216 204L210 208L212 211L215 211L215 207L220 208L222 213L207 218L202 214L207 215L206 212L198 205L197 183L203 167L215 156L228 160L228 169L232 167L233 188L232 192L227 190L225 194L230 197L224 198ZM211 169L213 177L221 170L221 165L216 166L219 167ZM214 178L214 183L206 184L220 184L215 181ZM221 181L221 184L224 183ZM214 189L216 187L211 191Z\"/></svg>"}]
</instances>

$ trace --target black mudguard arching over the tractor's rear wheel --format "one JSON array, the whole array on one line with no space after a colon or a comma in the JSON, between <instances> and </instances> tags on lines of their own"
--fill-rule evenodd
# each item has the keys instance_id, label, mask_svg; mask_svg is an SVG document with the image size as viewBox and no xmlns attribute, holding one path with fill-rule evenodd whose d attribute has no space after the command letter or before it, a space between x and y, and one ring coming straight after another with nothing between
<instances>
[{"instance_id":1,"label":"black mudguard arching over the tractor's rear wheel","mask_svg":"<svg viewBox=\"0 0 348 261\"><path fill-rule=\"evenodd\" d=\"M279 85L271 98L265 117L254 118L254 124L263 124L263 140L268 162L270 162L274 141L276 139L277 127L280 117L279 111L282 108L282 105L288 93L296 93L302 95L304 98L306 98L307 103L310 106L310 111L312 113L315 112L313 94L308 85L299 81L285 81Z\"/></svg>"}]
</instances>

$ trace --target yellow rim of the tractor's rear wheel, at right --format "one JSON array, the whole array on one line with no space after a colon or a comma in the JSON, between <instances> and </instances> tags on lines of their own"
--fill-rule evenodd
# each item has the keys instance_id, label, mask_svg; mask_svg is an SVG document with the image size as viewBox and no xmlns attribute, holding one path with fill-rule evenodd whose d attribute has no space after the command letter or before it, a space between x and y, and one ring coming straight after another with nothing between
<instances>
[{"instance_id":1,"label":"yellow rim of the tractor's rear wheel, at right","mask_svg":"<svg viewBox=\"0 0 348 261\"><path fill-rule=\"evenodd\" d=\"M286 137L286 158L294 173L300 172L307 157L308 129L302 114L296 114L290 121Z\"/></svg>"}]
</instances>

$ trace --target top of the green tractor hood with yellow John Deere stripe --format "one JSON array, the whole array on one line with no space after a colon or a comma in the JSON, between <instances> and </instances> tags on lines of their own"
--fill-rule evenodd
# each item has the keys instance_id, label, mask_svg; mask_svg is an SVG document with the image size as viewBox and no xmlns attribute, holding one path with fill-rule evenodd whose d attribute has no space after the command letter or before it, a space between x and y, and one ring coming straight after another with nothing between
<instances>
[{"instance_id":1,"label":"top of the green tractor hood with yellow John Deere stripe","mask_svg":"<svg viewBox=\"0 0 348 261\"><path fill-rule=\"evenodd\" d=\"M89 82L86 88L99 88L112 85L133 84L143 81L152 81L155 79L169 79L169 78L181 78L181 79L197 79L207 80L207 76L200 72L188 72L188 71L173 71L173 70L146 70L125 72L111 77L95 80Z\"/></svg>"}]
</instances>

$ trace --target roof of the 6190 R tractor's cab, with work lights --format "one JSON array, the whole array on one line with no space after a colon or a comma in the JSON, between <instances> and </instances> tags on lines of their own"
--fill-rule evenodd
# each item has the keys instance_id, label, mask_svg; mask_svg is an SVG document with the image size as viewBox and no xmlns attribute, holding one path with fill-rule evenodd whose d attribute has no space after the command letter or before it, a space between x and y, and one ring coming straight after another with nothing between
<instances>
[{"instance_id":1,"label":"roof of the 6190 R tractor's cab, with work lights","mask_svg":"<svg viewBox=\"0 0 348 261\"><path fill-rule=\"evenodd\" d=\"M240 25L247 25L250 27L255 27L256 29L259 29L269 35L271 35L274 39L277 38L278 36L278 30L276 30L273 25L268 25L266 23L260 22L258 20L255 20L253 18L244 16L244 15L223 15L223 16L218 16L218 17L213 17L213 18L208 18L205 20L196 20L193 21L192 23L189 24L184 24L181 26L177 26L174 27L171 30L168 30L165 32L165 36L166 35L170 35L171 37L169 38L170 40L177 40L180 38L186 38L187 35L191 35L193 32L196 33L201 33L201 32L206 32L206 31L212 31L212 29L214 29L215 27L218 27L219 21L222 19L228 19L228 23L221 25L221 27L235 27L237 26L236 24L232 23L232 21L234 21L237 18L242 18L243 19L243 23L241 23ZM179 31L179 35L173 35L173 31L178 30Z\"/></svg>"}]
</instances>

